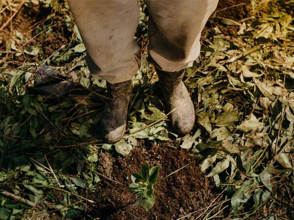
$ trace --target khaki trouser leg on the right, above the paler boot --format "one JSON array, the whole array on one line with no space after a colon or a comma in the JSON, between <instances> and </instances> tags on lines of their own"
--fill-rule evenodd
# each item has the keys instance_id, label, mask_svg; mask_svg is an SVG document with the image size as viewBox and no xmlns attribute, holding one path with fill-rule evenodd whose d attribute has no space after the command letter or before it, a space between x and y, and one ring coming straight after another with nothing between
<instances>
[{"instance_id":1,"label":"khaki trouser leg on the right, above the paler boot","mask_svg":"<svg viewBox=\"0 0 294 220\"><path fill-rule=\"evenodd\" d=\"M218 0L146 0L149 54L161 70L193 66L200 53L200 35Z\"/></svg>"}]
</instances>

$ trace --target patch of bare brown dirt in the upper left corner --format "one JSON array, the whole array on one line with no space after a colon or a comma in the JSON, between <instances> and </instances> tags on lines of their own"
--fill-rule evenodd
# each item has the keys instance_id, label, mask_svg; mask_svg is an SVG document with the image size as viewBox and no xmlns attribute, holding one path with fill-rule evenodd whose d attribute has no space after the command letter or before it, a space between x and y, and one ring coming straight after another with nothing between
<instances>
[{"instance_id":1,"label":"patch of bare brown dirt in the upper left corner","mask_svg":"<svg viewBox=\"0 0 294 220\"><path fill-rule=\"evenodd\" d=\"M6 18L3 21L10 18L10 12L5 12ZM64 22L67 13L60 8L55 12L52 19L47 20L47 16L52 13L51 8L44 7L42 3L33 7L23 5L11 24L0 31L0 51L5 49L5 43L8 40L13 40L14 34L11 33L14 33L14 31L22 33L27 39L27 41L22 42L25 45L20 45L22 50L25 50L26 46L39 46L41 48L39 56L30 56L23 53L21 56L15 57L16 62L39 62L38 57L47 58L62 45L67 45L71 37L71 33L67 30ZM0 26L3 23L1 22ZM48 27L52 29L50 32L48 32ZM13 53L9 53L9 56L13 56Z\"/></svg>"}]
</instances>

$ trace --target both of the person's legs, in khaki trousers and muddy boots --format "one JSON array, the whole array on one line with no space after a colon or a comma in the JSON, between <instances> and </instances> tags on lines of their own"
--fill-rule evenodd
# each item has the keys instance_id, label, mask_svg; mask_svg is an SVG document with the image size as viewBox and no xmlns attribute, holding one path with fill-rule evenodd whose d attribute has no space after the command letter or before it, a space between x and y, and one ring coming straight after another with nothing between
<instances>
[{"instance_id":1,"label":"both of the person's legs, in khaki trousers and muddy boots","mask_svg":"<svg viewBox=\"0 0 294 220\"><path fill-rule=\"evenodd\" d=\"M181 82L182 70L192 66L198 57L201 31L216 9L218 0L145 2L150 14L149 61L156 67L161 82L165 84L167 109L173 110L172 125L178 133L187 133L193 127L191 124L194 124L195 115L187 89ZM106 108L108 119L102 121L102 130L108 141L115 142L122 137L125 129L126 112L123 112L129 101L127 97L131 87L127 82L141 64L141 50L134 41L139 23L138 1L69 0L69 4L87 48L87 64L91 73L105 79L113 91L111 95L114 101ZM118 97L117 101L115 97ZM126 100L122 103L123 97ZM119 116L121 114L122 117ZM185 120L187 117L190 123ZM185 123L181 123L183 120ZM187 123L189 128L181 128Z\"/></svg>"}]
</instances>

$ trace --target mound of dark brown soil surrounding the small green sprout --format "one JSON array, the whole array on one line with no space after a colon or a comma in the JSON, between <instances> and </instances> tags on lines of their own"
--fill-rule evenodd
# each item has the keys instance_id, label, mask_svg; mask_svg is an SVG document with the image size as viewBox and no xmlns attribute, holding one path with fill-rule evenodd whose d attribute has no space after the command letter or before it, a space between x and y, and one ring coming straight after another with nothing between
<instances>
[{"instance_id":1,"label":"mound of dark brown soil surrounding the small green sprout","mask_svg":"<svg viewBox=\"0 0 294 220\"><path fill-rule=\"evenodd\" d=\"M167 142L153 144L145 141L144 145L136 147L127 157L101 154L98 170L104 177L101 177L97 193L88 195L95 201L92 207L95 213L92 214L101 220L175 220L198 210L196 215L188 218L193 220L214 198L212 179L201 173L198 162L189 151L174 148ZM138 197L127 190L131 173L140 172L143 163L161 167L155 185L155 204L149 212L135 206ZM163 179L187 164L190 165Z\"/></svg>"}]
</instances>

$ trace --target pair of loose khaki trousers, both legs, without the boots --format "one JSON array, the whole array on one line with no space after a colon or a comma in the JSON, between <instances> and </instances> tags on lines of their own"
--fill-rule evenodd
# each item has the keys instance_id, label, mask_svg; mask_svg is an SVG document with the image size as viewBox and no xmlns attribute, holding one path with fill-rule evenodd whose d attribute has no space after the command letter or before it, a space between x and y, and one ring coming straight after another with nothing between
<instances>
[{"instance_id":1,"label":"pair of loose khaki trousers, both legs, without the boots","mask_svg":"<svg viewBox=\"0 0 294 220\"><path fill-rule=\"evenodd\" d=\"M145 0L149 10L149 60L174 72L193 65L200 34L218 0ZM133 78L141 50L134 41L139 23L137 0L69 0L87 48L92 74L109 83Z\"/></svg>"}]
</instances>

